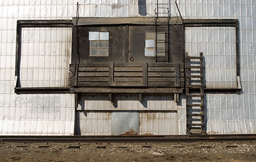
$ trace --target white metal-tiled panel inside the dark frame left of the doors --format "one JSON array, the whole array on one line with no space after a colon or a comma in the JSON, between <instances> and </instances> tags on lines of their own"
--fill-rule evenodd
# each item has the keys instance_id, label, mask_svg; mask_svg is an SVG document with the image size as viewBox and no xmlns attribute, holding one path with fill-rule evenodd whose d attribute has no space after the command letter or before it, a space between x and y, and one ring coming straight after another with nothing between
<instances>
[{"instance_id":1,"label":"white metal-tiled panel inside the dark frame left of the doors","mask_svg":"<svg viewBox=\"0 0 256 162\"><path fill-rule=\"evenodd\" d=\"M68 86L71 31L71 28L22 28L22 87Z\"/></svg>"}]
</instances>

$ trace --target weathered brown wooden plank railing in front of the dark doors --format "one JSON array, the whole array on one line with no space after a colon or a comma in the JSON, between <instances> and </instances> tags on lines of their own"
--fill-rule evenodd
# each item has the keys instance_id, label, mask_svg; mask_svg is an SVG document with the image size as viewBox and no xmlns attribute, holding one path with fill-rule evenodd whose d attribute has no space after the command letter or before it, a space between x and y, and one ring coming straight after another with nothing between
<instances>
[{"instance_id":1,"label":"weathered brown wooden plank railing in front of the dark doors","mask_svg":"<svg viewBox=\"0 0 256 162\"><path fill-rule=\"evenodd\" d=\"M184 65L179 63L86 63L77 71L74 67L70 64L70 86L184 87Z\"/></svg>"}]
</instances>

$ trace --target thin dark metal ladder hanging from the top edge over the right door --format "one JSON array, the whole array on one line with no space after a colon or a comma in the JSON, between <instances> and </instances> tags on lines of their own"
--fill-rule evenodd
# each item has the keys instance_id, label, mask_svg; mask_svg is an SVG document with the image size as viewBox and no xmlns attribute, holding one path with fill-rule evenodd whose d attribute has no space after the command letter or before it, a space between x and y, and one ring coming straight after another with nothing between
<instances>
[{"instance_id":1,"label":"thin dark metal ladder hanging from the top edge over the right door","mask_svg":"<svg viewBox=\"0 0 256 162\"><path fill-rule=\"evenodd\" d=\"M170 0L156 0L156 7L154 11L154 22L156 32L156 62L169 62L169 20L171 19ZM160 17L167 18L167 22L160 22ZM167 33L168 40L165 40L165 35Z\"/></svg>"}]
</instances>

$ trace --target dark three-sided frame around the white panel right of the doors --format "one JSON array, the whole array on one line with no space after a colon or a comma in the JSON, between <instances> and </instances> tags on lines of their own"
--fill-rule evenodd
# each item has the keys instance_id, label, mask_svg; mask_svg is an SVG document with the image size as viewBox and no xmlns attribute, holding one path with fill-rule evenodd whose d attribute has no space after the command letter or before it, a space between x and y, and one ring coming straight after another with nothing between
<instances>
[{"instance_id":1,"label":"dark three-sided frame around the white panel right of the doors","mask_svg":"<svg viewBox=\"0 0 256 162\"><path fill-rule=\"evenodd\" d=\"M240 43L238 19L184 20L184 27L234 27L236 28L236 78L240 77ZM238 80L237 80L238 82ZM207 93L239 93L242 88L205 88Z\"/></svg>"}]
</instances>

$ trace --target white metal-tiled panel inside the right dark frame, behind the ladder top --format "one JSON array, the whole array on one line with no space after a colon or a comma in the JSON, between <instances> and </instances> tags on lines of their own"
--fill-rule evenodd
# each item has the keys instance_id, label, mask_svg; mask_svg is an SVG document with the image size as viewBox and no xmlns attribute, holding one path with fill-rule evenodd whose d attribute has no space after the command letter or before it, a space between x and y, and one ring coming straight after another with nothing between
<instances>
[{"instance_id":1,"label":"white metal-tiled panel inside the right dark frame, behind the ladder top","mask_svg":"<svg viewBox=\"0 0 256 162\"><path fill-rule=\"evenodd\" d=\"M237 88L236 29L234 27L187 27L186 52L205 60L207 88Z\"/></svg>"}]
</instances>

